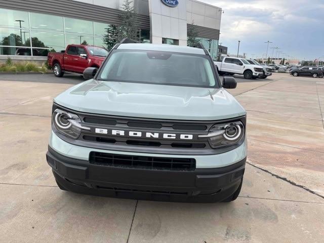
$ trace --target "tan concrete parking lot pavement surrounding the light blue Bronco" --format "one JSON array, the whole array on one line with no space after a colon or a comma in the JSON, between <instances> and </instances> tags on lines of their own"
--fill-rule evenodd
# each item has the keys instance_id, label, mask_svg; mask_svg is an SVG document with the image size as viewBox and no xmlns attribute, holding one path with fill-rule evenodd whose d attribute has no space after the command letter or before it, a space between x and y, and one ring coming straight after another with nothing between
<instances>
[{"instance_id":1,"label":"tan concrete parking lot pavement surrounding the light blue Bronco","mask_svg":"<svg viewBox=\"0 0 324 243\"><path fill-rule=\"evenodd\" d=\"M249 143L240 196L181 204L61 191L45 158L52 100L83 79L0 74L0 241L323 242L324 78L237 80Z\"/></svg>"}]
</instances>

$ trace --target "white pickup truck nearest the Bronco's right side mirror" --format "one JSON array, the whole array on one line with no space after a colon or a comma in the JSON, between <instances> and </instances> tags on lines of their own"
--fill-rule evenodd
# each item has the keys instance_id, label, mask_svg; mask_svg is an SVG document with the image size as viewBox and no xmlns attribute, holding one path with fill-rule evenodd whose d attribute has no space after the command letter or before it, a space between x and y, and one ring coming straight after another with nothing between
<instances>
[{"instance_id":1,"label":"white pickup truck nearest the Bronco's right side mirror","mask_svg":"<svg viewBox=\"0 0 324 243\"><path fill-rule=\"evenodd\" d=\"M224 57L222 62L214 62L220 75L241 74L244 78L258 78L263 76L263 68L250 64L246 59L237 57Z\"/></svg>"}]
</instances>

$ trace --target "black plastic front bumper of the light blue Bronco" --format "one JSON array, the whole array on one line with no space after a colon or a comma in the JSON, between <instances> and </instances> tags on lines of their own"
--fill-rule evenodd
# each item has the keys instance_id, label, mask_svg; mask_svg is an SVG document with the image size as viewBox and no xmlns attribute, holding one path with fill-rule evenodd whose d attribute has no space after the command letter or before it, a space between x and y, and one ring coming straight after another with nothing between
<instances>
[{"instance_id":1,"label":"black plastic front bumper of the light blue Bronco","mask_svg":"<svg viewBox=\"0 0 324 243\"><path fill-rule=\"evenodd\" d=\"M51 147L46 154L61 189L78 193L165 201L214 203L240 185L246 158L216 169L147 170L90 164L66 157Z\"/></svg>"}]
</instances>

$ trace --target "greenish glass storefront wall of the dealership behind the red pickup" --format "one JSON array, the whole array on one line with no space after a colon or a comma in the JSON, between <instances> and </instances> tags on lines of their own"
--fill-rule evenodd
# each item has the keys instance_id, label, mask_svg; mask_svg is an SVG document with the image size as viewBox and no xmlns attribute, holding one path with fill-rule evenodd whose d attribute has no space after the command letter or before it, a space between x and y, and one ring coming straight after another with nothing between
<instances>
[{"instance_id":1,"label":"greenish glass storefront wall of the dealership behind the red pickup","mask_svg":"<svg viewBox=\"0 0 324 243\"><path fill-rule=\"evenodd\" d=\"M47 56L70 44L107 48L111 25L68 17L0 9L0 55ZM141 29L141 42L149 42L149 30Z\"/></svg>"}]
</instances>

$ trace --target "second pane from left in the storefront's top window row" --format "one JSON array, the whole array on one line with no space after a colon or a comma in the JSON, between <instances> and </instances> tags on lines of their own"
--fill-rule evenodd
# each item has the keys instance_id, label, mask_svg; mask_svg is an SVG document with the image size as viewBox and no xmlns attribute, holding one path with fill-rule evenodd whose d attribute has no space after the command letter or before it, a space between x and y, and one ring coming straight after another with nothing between
<instances>
[{"instance_id":1,"label":"second pane from left in the storefront's top window row","mask_svg":"<svg viewBox=\"0 0 324 243\"><path fill-rule=\"evenodd\" d=\"M30 27L34 30L48 29L63 32L63 17L30 13Z\"/></svg>"}]
</instances>

